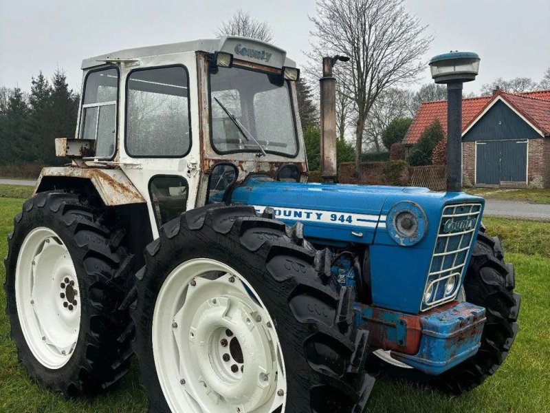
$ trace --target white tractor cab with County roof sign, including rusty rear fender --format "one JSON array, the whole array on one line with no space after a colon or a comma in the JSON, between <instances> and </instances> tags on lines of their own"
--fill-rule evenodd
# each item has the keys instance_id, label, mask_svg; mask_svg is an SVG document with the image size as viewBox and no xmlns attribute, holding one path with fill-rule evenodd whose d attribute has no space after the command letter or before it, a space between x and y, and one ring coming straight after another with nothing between
<instances>
[{"instance_id":1,"label":"white tractor cab with County roof sign, including rusty rear fender","mask_svg":"<svg viewBox=\"0 0 550 413\"><path fill-rule=\"evenodd\" d=\"M56 144L74 165L44 169L37 191L89 179L109 206L146 203L156 238L250 173L306 180L298 69L274 45L225 36L121 50L82 69L76 140Z\"/></svg>"}]
</instances>

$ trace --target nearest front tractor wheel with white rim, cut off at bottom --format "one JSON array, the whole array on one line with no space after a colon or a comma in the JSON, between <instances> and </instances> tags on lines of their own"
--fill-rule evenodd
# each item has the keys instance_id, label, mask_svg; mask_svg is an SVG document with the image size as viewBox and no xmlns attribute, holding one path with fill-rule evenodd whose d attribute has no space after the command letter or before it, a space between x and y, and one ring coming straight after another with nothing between
<instances>
[{"instance_id":1,"label":"nearest front tractor wheel with white rim, cut off at bottom","mask_svg":"<svg viewBox=\"0 0 550 413\"><path fill-rule=\"evenodd\" d=\"M145 256L133 318L150 412L362 412L351 290L322 285L296 232L209 206L162 226Z\"/></svg>"}]
</instances>

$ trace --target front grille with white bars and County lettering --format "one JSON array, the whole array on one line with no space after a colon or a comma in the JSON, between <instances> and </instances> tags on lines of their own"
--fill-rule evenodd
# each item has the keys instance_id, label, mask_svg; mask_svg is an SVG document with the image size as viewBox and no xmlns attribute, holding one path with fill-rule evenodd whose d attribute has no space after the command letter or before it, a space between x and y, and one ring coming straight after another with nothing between
<instances>
[{"instance_id":1,"label":"front grille with white bars and County lettering","mask_svg":"<svg viewBox=\"0 0 550 413\"><path fill-rule=\"evenodd\" d=\"M480 213L481 204L448 205L443 209L421 311L430 310L456 297ZM449 279L454 282L454 287L450 284L452 289L446 291Z\"/></svg>"}]
</instances>

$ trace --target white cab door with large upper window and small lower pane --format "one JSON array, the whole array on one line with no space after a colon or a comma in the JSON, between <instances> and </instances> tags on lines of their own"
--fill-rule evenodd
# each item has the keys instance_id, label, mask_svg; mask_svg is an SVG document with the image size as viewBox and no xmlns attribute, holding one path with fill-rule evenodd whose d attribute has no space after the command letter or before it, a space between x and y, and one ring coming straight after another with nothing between
<instances>
[{"instance_id":1,"label":"white cab door with large upper window and small lower pane","mask_svg":"<svg viewBox=\"0 0 550 413\"><path fill-rule=\"evenodd\" d=\"M119 162L147 200L154 237L159 226L195 207L196 78L194 52L141 58L122 68Z\"/></svg>"}]
</instances>

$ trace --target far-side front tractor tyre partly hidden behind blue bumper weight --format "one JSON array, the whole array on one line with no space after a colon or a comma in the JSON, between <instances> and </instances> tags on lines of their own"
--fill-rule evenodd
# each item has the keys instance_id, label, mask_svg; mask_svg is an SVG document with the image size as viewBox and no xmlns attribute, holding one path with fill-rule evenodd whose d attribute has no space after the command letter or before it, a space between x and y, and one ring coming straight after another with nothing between
<instances>
[{"instance_id":1,"label":"far-side front tractor tyre partly hidden behind blue bumper weight","mask_svg":"<svg viewBox=\"0 0 550 413\"><path fill-rule=\"evenodd\" d=\"M487 236L483 228L478 233L463 285L466 301L485 308L487 321L478 352L439 376L406 368L376 354L369 357L369 371L432 385L452 394L476 388L500 368L516 338L520 295L514 293L514 287L514 266L504 262L498 237Z\"/></svg>"}]
</instances>

